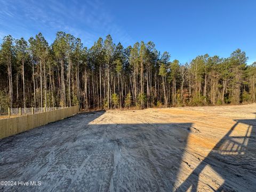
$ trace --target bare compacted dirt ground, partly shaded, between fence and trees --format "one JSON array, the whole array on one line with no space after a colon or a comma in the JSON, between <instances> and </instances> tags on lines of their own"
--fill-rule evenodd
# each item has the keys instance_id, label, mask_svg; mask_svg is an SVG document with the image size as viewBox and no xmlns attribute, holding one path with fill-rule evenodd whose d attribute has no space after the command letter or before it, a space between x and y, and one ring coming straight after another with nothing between
<instances>
[{"instance_id":1,"label":"bare compacted dirt ground, partly shaded, between fence and trees","mask_svg":"<svg viewBox=\"0 0 256 192\"><path fill-rule=\"evenodd\" d=\"M255 104L79 113L0 140L0 181L17 182L0 191L256 191L255 116Z\"/></svg>"}]
</instances>

